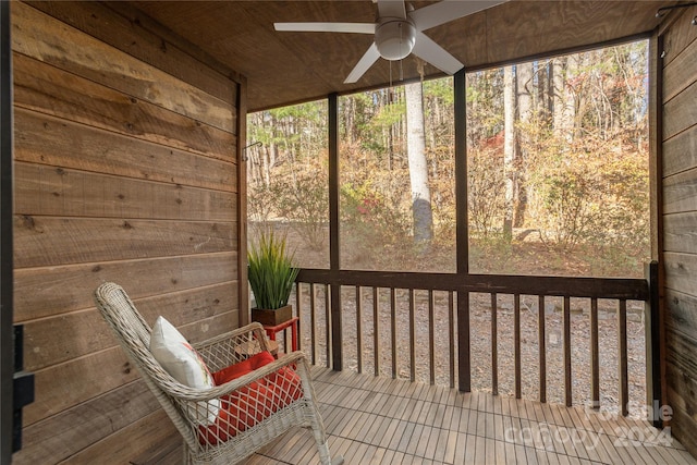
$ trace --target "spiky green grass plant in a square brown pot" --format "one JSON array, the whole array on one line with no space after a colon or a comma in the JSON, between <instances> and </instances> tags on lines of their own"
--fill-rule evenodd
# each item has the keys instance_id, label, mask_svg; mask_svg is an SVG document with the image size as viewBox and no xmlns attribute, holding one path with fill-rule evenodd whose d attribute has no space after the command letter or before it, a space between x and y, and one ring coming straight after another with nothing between
<instances>
[{"instance_id":1,"label":"spiky green grass plant in a square brown pot","mask_svg":"<svg viewBox=\"0 0 697 465\"><path fill-rule=\"evenodd\" d=\"M299 268L293 266L293 254L286 253L285 236L272 230L261 233L256 245L247 252L249 286L255 307L252 320L277 326L293 317L288 299Z\"/></svg>"}]
</instances>

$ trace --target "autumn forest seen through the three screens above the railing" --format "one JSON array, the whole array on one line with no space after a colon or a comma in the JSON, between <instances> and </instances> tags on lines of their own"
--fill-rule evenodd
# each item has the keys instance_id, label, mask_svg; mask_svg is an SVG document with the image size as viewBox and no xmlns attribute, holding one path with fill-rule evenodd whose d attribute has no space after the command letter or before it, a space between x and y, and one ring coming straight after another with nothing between
<instances>
[{"instance_id":1,"label":"autumn forest seen through the three screens above the railing","mask_svg":"<svg viewBox=\"0 0 697 465\"><path fill-rule=\"evenodd\" d=\"M466 73L469 272L643 277L647 47ZM455 271L453 107L451 77L340 97L342 269ZM281 229L307 268L329 266L327 112L248 115L250 240Z\"/></svg>"}]
</instances>

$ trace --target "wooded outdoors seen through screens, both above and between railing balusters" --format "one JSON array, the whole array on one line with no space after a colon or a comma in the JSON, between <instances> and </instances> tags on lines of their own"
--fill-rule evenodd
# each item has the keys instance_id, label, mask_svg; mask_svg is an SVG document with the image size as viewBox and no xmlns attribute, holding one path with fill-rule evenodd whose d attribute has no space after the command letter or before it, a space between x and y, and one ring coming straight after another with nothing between
<instances>
[{"instance_id":1,"label":"wooded outdoors seen through screens, both above and between railing balusters","mask_svg":"<svg viewBox=\"0 0 697 465\"><path fill-rule=\"evenodd\" d=\"M399 76L399 63L393 64ZM339 238L342 269L456 271L456 206L466 205L470 273L644 277L650 257L648 42L646 40L466 73L466 166L456 173L453 78L394 85L339 97ZM328 103L326 100L248 115L246 149L249 241L267 228L288 234L298 266L329 268ZM467 198L456 198L455 178ZM351 294L352 290L344 290ZM342 291L343 292L343 291ZM389 295L362 298L362 326L342 298L344 367L370 372L389 345ZM539 399L537 297L521 296L523 395ZM304 298L308 298L305 296ZM316 305L326 305L326 291ZM498 297L499 393L514 389L512 296ZM452 325L448 298L435 293L435 318L418 295L415 340L399 325L398 353L415 347L416 379L429 382L429 338L436 382L448 386ZM584 301L584 302L580 302ZM571 299L574 403L590 400L588 299ZM627 303L629 397L646 396L644 305ZM472 387L491 391L491 296L473 293ZM547 399L564 402L561 299L545 301ZM619 399L616 303L600 299L600 391L603 408ZM396 292L398 319L409 311ZM302 318L314 321L309 309ZM326 330L323 313L316 321ZM377 320L376 320L377 318ZM307 331L307 325L303 325ZM323 328L323 329L322 329ZM356 331L363 328L359 347ZM431 334L431 335L429 335ZM305 347L318 342L304 335ZM390 351L380 374L390 376ZM455 354L456 356L456 354ZM408 359L398 377L409 377ZM393 375L394 376L394 375ZM432 381L431 381L432 382ZM632 408L641 412L640 408Z\"/></svg>"}]
</instances>

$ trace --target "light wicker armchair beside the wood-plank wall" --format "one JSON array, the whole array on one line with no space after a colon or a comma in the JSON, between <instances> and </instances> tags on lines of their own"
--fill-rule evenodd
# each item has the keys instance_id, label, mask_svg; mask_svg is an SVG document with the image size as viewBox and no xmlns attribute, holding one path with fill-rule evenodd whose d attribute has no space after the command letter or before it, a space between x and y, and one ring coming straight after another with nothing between
<instances>
[{"instance_id":1,"label":"light wicker armchair beside the wood-plank wall","mask_svg":"<svg viewBox=\"0 0 697 465\"><path fill-rule=\"evenodd\" d=\"M284 355L215 388L189 388L172 378L155 359L149 351L151 329L121 286L103 283L95 291L95 299L117 339L184 438L186 464L236 463L294 426L309 426L320 462L332 463L325 427L314 401L308 364L302 352ZM257 347L256 352L269 348L259 323L193 346L211 372L247 359L252 346ZM242 346L246 348L241 351ZM259 394L259 389L264 394ZM223 407L227 420L220 423ZM211 412L217 420L215 424L210 423ZM333 461L334 464L342 462L341 457Z\"/></svg>"}]
</instances>

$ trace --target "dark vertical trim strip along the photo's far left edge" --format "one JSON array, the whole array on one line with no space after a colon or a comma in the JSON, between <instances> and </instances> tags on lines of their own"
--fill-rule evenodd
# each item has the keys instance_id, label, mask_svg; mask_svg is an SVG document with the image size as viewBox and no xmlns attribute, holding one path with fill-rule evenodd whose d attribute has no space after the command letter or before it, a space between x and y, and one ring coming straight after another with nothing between
<instances>
[{"instance_id":1,"label":"dark vertical trim strip along the photo's far left edge","mask_svg":"<svg viewBox=\"0 0 697 465\"><path fill-rule=\"evenodd\" d=\"M14 377L12 261L12 44L10 2L0 1L0 464L12 462Z\"/></svg>"}]
</instances>

